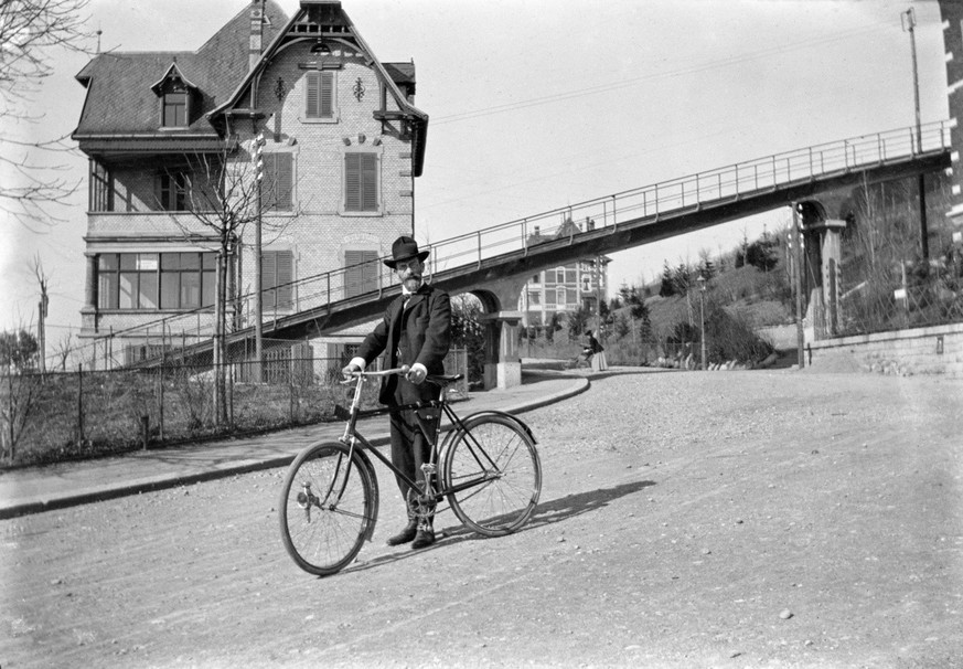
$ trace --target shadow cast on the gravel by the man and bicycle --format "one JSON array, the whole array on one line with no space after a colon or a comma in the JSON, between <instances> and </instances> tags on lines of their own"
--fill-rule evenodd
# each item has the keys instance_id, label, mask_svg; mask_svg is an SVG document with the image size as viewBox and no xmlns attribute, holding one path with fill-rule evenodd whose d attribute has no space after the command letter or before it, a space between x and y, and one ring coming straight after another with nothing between
<instances>
[{"instance_id":1,"label":"shadow cast on the gravel by the man and bicycle","mask_svg":"<svg viewBox=\"0 0 963 669\"><path fill-rule=\"evenodd\" d=\"M640 490L644 490L650 486L654 486L655 481L632 481L621 484L612 488L602 488L599 490L590 490L588 492L579 492L577 495L567 495L563 498L552 501L545 501L535 507L535 512L528 523L518 530L516 533L528 532L538 528L544 528L549 524L581 516L607 506L614 499L625 497ZM439 509L439 513L448 508ZM421 551L411 551L408 546L400 546L399 552L387 555L377 555L367 562L359 562L351 567L344 570L344 573L361 572L370 569L375 569L384 564L390 564L399 560L406 560L424 553L425 551L435 551L440 548L446 548L461 543L462 541L482 541L486 539L466 528L464 525L454 525L443 528L439 531L441 538L429 549Z\"/></svg>"}]
</instances>

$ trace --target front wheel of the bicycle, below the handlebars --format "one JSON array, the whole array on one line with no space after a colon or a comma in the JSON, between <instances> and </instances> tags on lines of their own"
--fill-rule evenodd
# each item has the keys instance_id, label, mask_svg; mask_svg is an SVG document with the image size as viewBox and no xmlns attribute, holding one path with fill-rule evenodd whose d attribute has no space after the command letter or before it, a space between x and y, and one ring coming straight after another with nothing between
<instances>
[{"instance_id":1,"label":"front wheel of the bicycle, below the handlebars","mask_svg":"<svg viewBox=\"0 0 963 669\"><path fill-rule=\"evenodd\" d=\"M280 499L281 540L306 572L335 574L351 563L377 513L374 474L338 443L307 447L288 468Z\"/></svg>"}]
</instances>

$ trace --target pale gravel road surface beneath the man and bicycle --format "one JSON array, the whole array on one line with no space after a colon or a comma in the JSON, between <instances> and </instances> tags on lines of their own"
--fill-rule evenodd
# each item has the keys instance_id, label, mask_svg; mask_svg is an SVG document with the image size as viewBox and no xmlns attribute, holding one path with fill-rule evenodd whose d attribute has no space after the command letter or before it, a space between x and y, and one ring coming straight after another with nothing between
<instances>
[{"instance_id":1,"label":"pale gravel road surface beneath the man and bicycle","mask_svg":"<svg viewBox=\"0 0 963 669\"><path fill-rule=\"evenodd\" d=\"M614 374L524 415L522 532L382 517L330 578L283 470L0 522L0 666L963 667L963 382Z\"/></svg>"}]
</instances>

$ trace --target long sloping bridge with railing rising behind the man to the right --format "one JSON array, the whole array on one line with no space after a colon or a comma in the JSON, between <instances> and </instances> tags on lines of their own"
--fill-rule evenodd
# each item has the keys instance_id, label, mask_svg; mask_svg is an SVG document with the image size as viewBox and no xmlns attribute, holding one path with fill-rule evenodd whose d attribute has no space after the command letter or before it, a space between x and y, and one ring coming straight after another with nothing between
<instances>
[{"instance_id":1,"label":"long sloping bridge with railing rising behind the man to the right","mask_svg":"<svg viewBox=\"0 0 963 669\"><path fill-rule=\"evenodd\" d=\"M430 251L430 283L450 294L477 295L490 319L491 363L517 358L505 328L517 323L517 301L532 275L580 258L609 254L711 227L752 214L815 199L865 181L902 179L951 164L951 121L863 135L767 156L663 181L578 204L546 211L422 246ZM536 232L552 235L567 219L591 221L581 232L568 226L563 238L531 244ZM296 310L268 312L264 337L303 340L368 322L384 312L399 287L381 262L345 267L290 284ZM250 302L253 300L248 300ZM249 321L250 310L245 309ZM156 330L182 331L197 319L185 353L211 349L210 325L201 331L195 315L153 323ZM118 334L115 332L115 334ZM125 333L129 336L130 333ZM232 347L254 338L246 325L228 336ZM249 347L253 349L253 347Z\"/></svg>"}]
</instances>

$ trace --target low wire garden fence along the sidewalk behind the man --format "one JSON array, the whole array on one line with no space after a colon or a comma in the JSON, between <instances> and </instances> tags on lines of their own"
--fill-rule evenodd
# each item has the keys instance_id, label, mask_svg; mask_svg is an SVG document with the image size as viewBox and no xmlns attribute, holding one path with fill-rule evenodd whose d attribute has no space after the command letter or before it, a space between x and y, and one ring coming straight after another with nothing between
<instances>
[{"instance_id":1,"label":"low wire garden fence along the sidewalk behind the man","mask_svg":"<svg viewBox=\"0 0 963 669\"><path fill-rule=\"evenodd\" d=\"M291 349L266 357L263 382L252 362L224 365L224 414L215 403L213 365L165 364L150 370L25 372L0 376L2 463L44 464L202 442L334 420L346 404L338 383L341 359L298 358ZM467 354L452 350L446 372L464 373ZM377 384L365 402L376 404ZM468 392L467 380L454 389Z\"/></svg>"}]
</instances>

